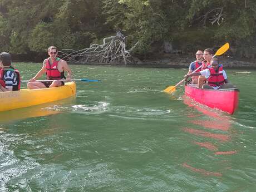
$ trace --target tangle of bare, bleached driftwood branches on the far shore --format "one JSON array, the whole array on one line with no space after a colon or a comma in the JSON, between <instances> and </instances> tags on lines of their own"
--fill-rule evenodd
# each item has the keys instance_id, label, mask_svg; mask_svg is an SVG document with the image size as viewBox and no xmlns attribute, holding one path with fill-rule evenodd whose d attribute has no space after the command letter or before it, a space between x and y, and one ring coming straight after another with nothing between
<instances>
[{"instance_id":1,"label":"tangle of bare, bleached driftwood branches on the far shore","mask_svg":"<svg viewBox=\"0 0 256 192\"><path fill-rule=\"evenodd\" d=\"M72 63L109 63L109 64L127 64L132 63L132 50L138 45L135 43L130 50L126 50L126 38L128 36L117 32L116 36L106 37L103 40L103 45L92 44L89 48L82 50L65 50L71 53L58 51L62 53L60 58Z\"/></svg>"}]
</instances>

